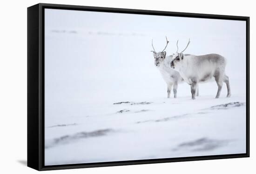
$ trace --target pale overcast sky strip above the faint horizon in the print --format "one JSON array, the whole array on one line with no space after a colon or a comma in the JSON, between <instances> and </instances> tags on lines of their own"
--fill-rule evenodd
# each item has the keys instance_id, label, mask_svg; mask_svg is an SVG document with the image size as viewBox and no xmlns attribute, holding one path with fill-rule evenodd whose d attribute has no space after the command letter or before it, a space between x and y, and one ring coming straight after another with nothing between
<instances>
[{"instance_id":1,"label":"pale overcast sky strip above the faint horizon in the print","mask_svg":"<svg viewBox=\"0 0 256 174\"><path fill-rule=\"evenodd\" d=\"M245 37L245 21L46 9L46 28Z\"/></svg>"}]
</instances>

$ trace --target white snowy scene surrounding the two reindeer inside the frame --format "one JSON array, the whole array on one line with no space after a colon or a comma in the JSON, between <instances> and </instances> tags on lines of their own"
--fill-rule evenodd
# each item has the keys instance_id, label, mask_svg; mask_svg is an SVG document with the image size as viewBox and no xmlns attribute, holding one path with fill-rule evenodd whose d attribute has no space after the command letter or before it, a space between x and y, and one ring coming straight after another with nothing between
<instances>
[{"instance_id":1,"label":"white snowy scene surrounding the two reindeer inside the frame","mask_svg":"<svg viewBox=\"0 0 256 174\"><path fill-rule=\"evenodd\" d=\"M53 9L45 14L45 165L246 152L243 21ZM174 27L177 22L181 28ZM176 39L182 47L190 37L186 53L225 56L231 97L223 84L215 99L217 85L210 81L199 84L196 100L186 83L179 84L176 99L167 99L150 52L151 39L162 50L165 35L168 55Z\"/></svg>"}]
</instances>

